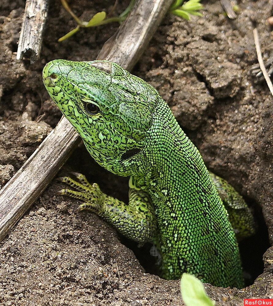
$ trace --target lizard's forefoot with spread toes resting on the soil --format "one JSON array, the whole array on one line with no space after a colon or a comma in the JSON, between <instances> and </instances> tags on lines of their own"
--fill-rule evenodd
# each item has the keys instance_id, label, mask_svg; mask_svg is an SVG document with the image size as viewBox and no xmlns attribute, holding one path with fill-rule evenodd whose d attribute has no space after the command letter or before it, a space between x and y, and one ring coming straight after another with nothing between
<instances>
[{"instance_id":1,"label":"lizard's forefoot with spread toes resting on the soil","mask_svg":"<svg viewBox=\"0 0 273 306\"><path fill-rule=\"evenodd\" d=\"M60 195L69 196L70 198L74 198L80 201L83 201L74 212L79 212L83 210L89 210L97 213L98 215L101 212L102 203L104 202L105 195L101 192L99 185L94 183L91 185L86 177L80 173L72 173L76 179L72 179L71 177L58 177L57 180L61 181L70 187L76 189L62 189L57 193Z\"/></svg>"}]
</instances>

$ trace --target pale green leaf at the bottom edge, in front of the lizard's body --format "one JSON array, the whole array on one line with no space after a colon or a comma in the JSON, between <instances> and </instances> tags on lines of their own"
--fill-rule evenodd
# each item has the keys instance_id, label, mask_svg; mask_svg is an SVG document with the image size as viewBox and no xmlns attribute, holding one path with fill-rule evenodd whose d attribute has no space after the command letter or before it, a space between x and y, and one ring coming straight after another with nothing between
<instances>
[{"instance_id":1,"label":"pale green leaf at the bottom edge, in front of the lizard's body","mask_svg":"<svg viewBox=\"0 0 273 306\"><path fill-rule=\"evenodd\" d=\"M198 278L188 273L183 273L180 282L181 296L186 306L214 306L206 294L204 285Z\"/></svg>"}]
</instances>

